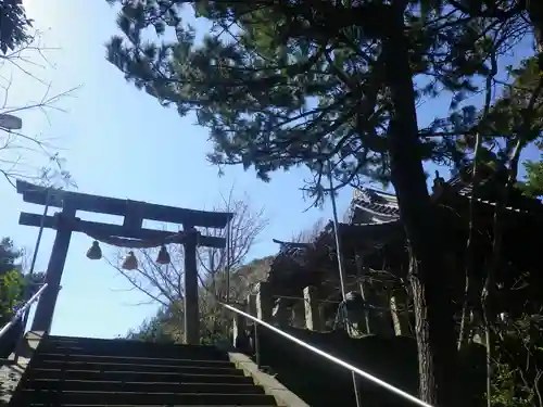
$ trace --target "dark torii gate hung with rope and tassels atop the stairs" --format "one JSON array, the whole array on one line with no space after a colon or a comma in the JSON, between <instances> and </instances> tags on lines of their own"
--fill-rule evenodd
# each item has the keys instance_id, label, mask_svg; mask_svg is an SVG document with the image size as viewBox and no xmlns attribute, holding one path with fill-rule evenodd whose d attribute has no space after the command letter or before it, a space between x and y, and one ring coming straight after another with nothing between
<instances>
[{"instance_id":1,"label":"dark torii gate hung with rope and tassels atop the stairs","mask_svg":"<svg viewBox=\"0 0 543 407\"><path fill-rule=\"evenodd\" d=\"M61 208L53 216L22 212L18 222L25 226L55 229L53 249L47 267L49 284L41 295L31 329L49 332L66 262L72 232L83 232L105 243L111 239L132 239L136 242L179 243L185 251L185 342L199 344L200 316L198 309L197 246L226 247L226 239L201 236L194 227L224 229L233 217L231 213L184 209L146 202L97 196L86 193L49 189L17 180L17 193L23 201ZM87 221L76 217L77 211L123 216L123 225ZM182 226L182 232L144 229L143 220L157 220Z\"/></svg>"}]
</instances>

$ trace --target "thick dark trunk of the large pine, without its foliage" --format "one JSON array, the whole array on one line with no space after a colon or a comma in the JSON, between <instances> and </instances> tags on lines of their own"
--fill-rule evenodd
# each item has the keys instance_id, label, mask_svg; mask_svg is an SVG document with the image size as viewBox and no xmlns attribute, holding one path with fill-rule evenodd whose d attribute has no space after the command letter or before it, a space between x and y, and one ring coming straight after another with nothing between
<instances>
[{"instance_id":1,"label":"thick dark trunk of the large pine, without its foliage","mask_svg":"<svg viewBox=\"0 0 543 407\"><path fill-rule=\"evenodd\" d=\"M411 252L409 281L416 317L419 391L422 400L429 404L454 406L458 405L456 338L453 307L444 279L447 271L420 157L413 74L404 37L404 10L394 10L393 13L394 23L383 42L387 84L394 105L389 148L392 182Z\"/></svg>"}]
</instances>

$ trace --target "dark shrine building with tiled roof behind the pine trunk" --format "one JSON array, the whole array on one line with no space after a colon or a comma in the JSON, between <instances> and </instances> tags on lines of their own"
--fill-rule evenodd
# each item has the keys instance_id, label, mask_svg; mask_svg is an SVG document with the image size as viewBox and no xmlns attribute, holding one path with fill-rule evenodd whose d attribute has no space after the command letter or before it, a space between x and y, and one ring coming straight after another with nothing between
<instances>
[{"instance_id":1,"label":"dark shrine building with tiled roof behind the pine trunk","mask_svg":"<svg viewBox=\"0 0 543 407\"><path fill-rule=\"evenodd\" d=\"M445 245L443 283L462 306L467 265L470 211L473 212L473 255L470 270L473 281L482 284L491 262L494 216L505 183L503 173L485 170L472 200L471 173L444 181L435 175L431 199L438 228ZM531 298L541 302L539 238L543 226L543 205L513 189L501 212L502 247L496 269L500 313L519 310ZM348 292L361 293L366 304L358 316L357 331L382 335L413 335L407 244L393 194L371 188L354 191L349 221L339 224ZM341 301L333 224L330 221L311 243L281 242L270 265L258 304L276 323L327 331ZM274 309L275 306L275 309ZM526 310L526 309L525 309Z\"/></svg>"}]
</instances>

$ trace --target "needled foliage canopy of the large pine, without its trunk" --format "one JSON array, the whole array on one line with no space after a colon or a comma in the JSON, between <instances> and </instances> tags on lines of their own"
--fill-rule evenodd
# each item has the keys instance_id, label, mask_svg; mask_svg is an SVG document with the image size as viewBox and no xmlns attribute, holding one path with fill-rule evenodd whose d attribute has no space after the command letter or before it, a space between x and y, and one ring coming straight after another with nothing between
<instances>
[{"instance_id":1,"label":"needled foliage canopy of the large pine, without its trunk","mask_svg":"<svg viewBox=\"0 0 543 407\"><path fill-rule=\"evenodd\" d=\"M197 15L213 24L201 44L179 17L182 3L123 2L123 36L109 42L108 60L163 105L180 115L194 110L199 124L211 130L212 162L254 166L264 180L276 169L305 165L316 175L311 190L317 195L328 160L342 185L390 179L387 138L396 107L388 81L393 79L383 76L383 48L374 46L390 34L389 2L194 1ZM409 77L421 84L412 103L449 90L453 110L458 109L420 129L417 154L460 165L456 139L432 135L458 136L477 123L477 110L460 102L477 90L472 78L489 71L493 22L457 24L459 15L444 2L411 3L403 12ZM147 28L160 40L149 42ZM165 40L168 29L176 41Z\"/></svg>"}]
</instances>

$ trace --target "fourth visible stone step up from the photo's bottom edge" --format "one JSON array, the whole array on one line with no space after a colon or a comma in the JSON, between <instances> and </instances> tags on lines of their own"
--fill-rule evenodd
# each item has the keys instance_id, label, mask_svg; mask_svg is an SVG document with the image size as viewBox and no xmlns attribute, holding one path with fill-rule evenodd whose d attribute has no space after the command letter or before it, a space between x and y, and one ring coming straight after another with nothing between
<instances>
[{"instance_id":1,"label":"fourth visible stone step up from the photo's bottom edge","mask_svg":"<svg viewBox=\"0 0 543 407\"><path fill-rule=\"evenodd\" d=\"M55 359L36 359L31 361L31 368L56 369L56 370L94 370L94 371L131 371L131 372L169 372L188 374L230 374L243 376L240 369L232 366L228 367L200 367L200 366L179 366L179 365L141 365L138 363L116 363L111 359L102 361L77 361L77 360L55 360Z\"/></svg>"}]
</instances>

